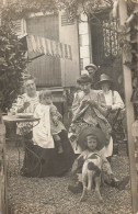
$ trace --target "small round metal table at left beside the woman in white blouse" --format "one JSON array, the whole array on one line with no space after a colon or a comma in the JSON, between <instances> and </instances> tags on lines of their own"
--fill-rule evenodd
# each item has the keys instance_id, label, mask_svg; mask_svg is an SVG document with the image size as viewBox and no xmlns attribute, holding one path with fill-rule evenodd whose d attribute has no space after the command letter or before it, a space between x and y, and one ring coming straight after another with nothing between
<instances>
[{"instance_id":1,"label":"small round metal table at left beside the woman in white blouse","mask_svg":"<svg viewBox=\"0 0 138 214\"><path fill-rule=\"evenodd\" d=\"M4 115L2 116L3 122L7 126L7 123L9 124L13 124L13 123L24 123L24 122L38 122L39 123L39 119L36 119L34 116L28 116L28 117L19 117L18 115ZM37 124L38 124L37 123ZM37 124L35 124L34 126L36 126ZM34 127L32 126L32 127ZM23 135L22 135L23 136ZM16 138L15 138L16 140ZM20 168L20 149L19 149L19 144L18 144L18 151L19 151L19 168Z\"/></svg>"}]
</instances>

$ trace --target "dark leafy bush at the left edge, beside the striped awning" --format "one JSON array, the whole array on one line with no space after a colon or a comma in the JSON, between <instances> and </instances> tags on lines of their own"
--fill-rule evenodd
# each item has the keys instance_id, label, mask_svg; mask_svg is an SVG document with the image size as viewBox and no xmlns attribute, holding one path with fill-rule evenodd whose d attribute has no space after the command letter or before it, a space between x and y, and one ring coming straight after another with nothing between
<instances>
[{"instance_id":1,"label":"dark leafy bush at the left edge, beside the striped awning","mask_svg":"<svg viewBox=\"0 0 138 214\"><path fill-rule=\"evenodd\" d=\"M8 24L0 26L0 100L5 110L19 93L26 59L22 43Z\"/></svg>"}]
</instances>

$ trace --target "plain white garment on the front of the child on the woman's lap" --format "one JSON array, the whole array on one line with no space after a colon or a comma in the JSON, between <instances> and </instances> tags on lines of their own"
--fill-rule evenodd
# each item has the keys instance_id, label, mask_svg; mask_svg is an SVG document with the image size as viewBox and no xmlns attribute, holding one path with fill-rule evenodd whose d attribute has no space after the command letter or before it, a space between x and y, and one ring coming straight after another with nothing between
<instances>
[{"instance_id":1,"label":"plain white garment on the front of the child on the woman's lap","mask_svg":"<svg viewBox=\"0 0 138 214\"><path fill-rule=\"evenodd\" d=\"M54 139L50 133L50 105L38 104L34 116L41 119L38 125L33 127L33 142L43 148L54 148Z\"/></svg>"}]
</instances>

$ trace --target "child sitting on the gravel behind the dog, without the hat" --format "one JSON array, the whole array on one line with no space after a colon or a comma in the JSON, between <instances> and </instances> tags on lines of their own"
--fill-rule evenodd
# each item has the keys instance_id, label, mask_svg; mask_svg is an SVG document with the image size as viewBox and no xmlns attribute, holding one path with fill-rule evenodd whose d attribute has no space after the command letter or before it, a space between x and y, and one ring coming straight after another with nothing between
<instances>
[{"instance_id":1,"label":"child sitting on the gravel behind the dog, without the hat","mask_svg":"<svg viewBox=\"0 0 138 214\"><path fill-rule=\"evenodd\" d=\"M100 139L101 138L101 139ZM78 173L78 184L77 185L69 185L68 190L71 191L72 193L80 193L82 192L82 178L81 178L81 171L82 171L82 166L84 161L91 156L96 154L97 156L101 157L102 159L102 180L104 180L107 184L117 188L119 190L123 190L125 185L128 183L129 178L126 177L122 181L117 180L111 169L111 165L107 161L107 159L101 155L99 148L101 147L102 143L102 137L99 137L95 134L89 133L85 136L85 150L82 151L82 154L74 160L71 169L71 173ZM103 178L104 177L104 178Z\"/></svg>"}]
</instances>

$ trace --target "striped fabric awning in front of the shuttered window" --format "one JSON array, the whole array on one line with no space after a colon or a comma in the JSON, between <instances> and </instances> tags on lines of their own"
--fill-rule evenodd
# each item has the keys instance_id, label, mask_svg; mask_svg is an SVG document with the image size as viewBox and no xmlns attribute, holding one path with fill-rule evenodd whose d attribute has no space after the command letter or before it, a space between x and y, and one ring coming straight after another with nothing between
<instances>
[{"instance_id":1,"label":"striped fabric awning in front of the shuttered window","mask_svg":"<svg viewBox=\"0 0 138 214\"><path fill-rule=\"evenodd\" d=\"M37 35L27 35L28 58L34 59L42 55L72 59L71 46Z\"/></svg>"}]
</instances>

